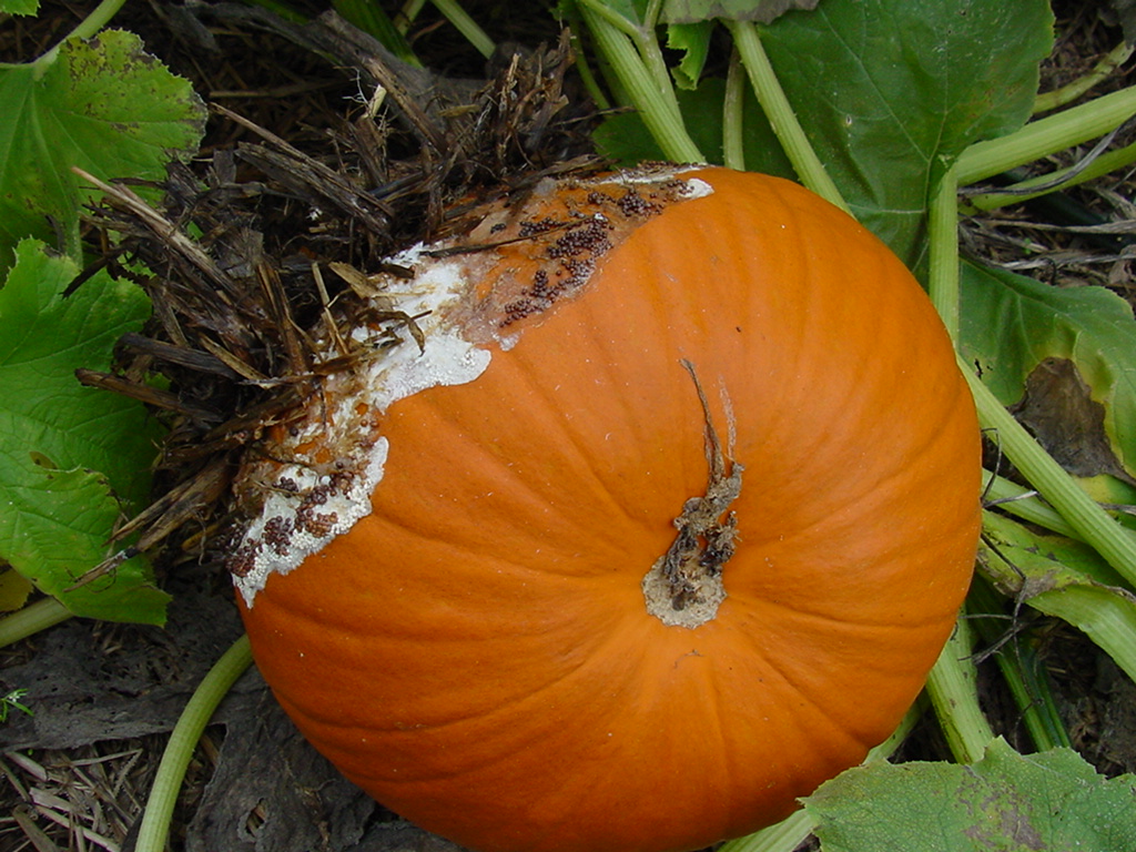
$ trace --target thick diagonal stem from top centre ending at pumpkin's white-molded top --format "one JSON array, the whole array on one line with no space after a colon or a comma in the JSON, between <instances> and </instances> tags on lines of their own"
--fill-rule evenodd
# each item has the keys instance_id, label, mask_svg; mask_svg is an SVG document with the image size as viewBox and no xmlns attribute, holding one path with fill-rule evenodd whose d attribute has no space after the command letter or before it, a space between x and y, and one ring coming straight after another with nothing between
<instances>
[{"instance_id":1,"label":"thick diagonal stem from top centre ending at pumpkin's white-molded top","mask_svg":"<svg viewBox=\"0 0 1136 852\"><path fill-rule=\"evenodd\" d=\"M579 10L596 50L607 60L630 106L638 110L648 132L662 148L663 156L675 162L705 162L702 151L686 132L669 81L668 97L626 32L626 22L617 26L610 19L611 14L599 5L593 6L591 0L580 0Z\"/></svg>"}]
</instances>

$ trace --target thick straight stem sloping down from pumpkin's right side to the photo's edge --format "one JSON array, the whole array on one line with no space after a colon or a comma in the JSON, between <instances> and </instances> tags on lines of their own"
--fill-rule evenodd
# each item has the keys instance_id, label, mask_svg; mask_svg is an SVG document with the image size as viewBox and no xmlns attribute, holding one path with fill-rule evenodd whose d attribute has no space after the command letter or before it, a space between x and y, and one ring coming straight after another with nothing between
<instances>
[{"instance_id":1,"label":"thick straight stem sloping down from pumpkin's right side to the photo's edge","mask_svg":"<svg viewBox=\"0 0 1136 852\"><path fill-rule=\"evenodd\" d=\"M1074 482L966 362L960 360L960 367L975 395L979 421L997 433L997 442L1010 461L1068 521L1081 541L1095 548L1129 583L1136 584L1136 538L1128 535Z\"/></svg>"}]
</instances>

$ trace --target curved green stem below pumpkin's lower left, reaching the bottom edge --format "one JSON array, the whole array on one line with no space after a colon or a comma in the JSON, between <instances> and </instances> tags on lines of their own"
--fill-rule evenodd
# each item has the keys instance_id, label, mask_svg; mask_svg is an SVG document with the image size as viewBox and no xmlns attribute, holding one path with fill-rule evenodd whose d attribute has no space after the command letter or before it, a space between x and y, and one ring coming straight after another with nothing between
<instances>
[{"instance_id":1,"label":"curved green stem below pumpkin's lower left, reaching the bottom edge","mask_svg":"<svg viewBox=\"0 0 1136 852\"><path fill-rule=\"evenodd\" d=\"M154 776L153 787L147 800L145 812L142 815L135 852L164 852L166 849L169 820L174 813L182 779L193 757L193 749L217 704L251 663L249 637L243 635L209 669L209 674L204 676L185 705L158 765L158 774Z\"/></svg>"}]
</instances>

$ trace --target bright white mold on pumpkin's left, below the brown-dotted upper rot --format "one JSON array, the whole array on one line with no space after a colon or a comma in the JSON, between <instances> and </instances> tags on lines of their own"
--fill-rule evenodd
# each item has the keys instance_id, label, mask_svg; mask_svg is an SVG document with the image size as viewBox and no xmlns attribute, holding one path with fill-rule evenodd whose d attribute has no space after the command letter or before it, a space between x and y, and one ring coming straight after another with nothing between
<instances>
[{"instance_id":1,"label":"bright white mold on pumpkin's left, below the brown-dotted upper rot","mask_svg":"<svg viewBox=\"0 0 1136 852\"><path fill-rule=\"evenodd\" d=\"M299 567L370 513L370 494L383 478L389 449L375 433L377 416L428 387L473 382L488 366L490 351L466 341L449 319L467 286L465 265L424 258L421 251L418 245L393 258L419 274L392 279L383 298L416 318L423 346L406 340L376 352L354 371L329 376L323 404L309 402L274 446L273 460L253 465L242 477L262 500L229 560L233 582L249 607L272 574ZM374 345L374 334L362 326L352 332L352 342ZM339 354L329 341L324 349L327 359ZM324 458L328 451L331 458Z\"/></svg>"}]
</instances>

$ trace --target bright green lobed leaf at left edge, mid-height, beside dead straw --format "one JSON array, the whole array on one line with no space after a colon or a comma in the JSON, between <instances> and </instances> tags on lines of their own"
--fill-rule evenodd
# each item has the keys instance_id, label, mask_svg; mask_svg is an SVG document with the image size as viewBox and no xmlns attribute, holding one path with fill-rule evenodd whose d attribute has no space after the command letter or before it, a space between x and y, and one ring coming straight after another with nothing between
<instances>
[{"instance_id":1,"label":"bright green lobed leaf at left edge, mid-height, beside dead straw","mask_svg":"<svg viewBox=\"0 0 1136 852\"><path fill-rule=\"evenodd\" d=\"M77 272L25 240L0 290L0 559L76 615L160 624L167 596L140 559L65 591L108 556L116 521L144 504L159 434L142 406L74 375L106 369L149 301L105 272L62 298Z\"/></svg>"}]
</instances>

